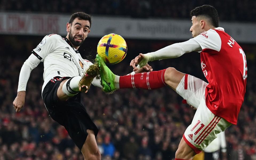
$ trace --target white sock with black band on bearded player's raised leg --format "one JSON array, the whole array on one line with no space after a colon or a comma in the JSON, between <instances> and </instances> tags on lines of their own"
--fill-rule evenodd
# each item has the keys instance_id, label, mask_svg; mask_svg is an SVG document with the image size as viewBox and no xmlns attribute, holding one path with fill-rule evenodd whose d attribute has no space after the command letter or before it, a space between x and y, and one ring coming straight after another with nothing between
<instances>
[{"instance_id":1,"label":"white sock with black band on bearded player's raised leg","mask_svg":"<svg viewBox=\"0 0 256 160\"><path fill-rule=\"evenodd\" d=\"M68 96L74 96L79 93L78 83L82 77L75 76L68 79L62 86L62 91Z\"/></svg>"}]
</instances>

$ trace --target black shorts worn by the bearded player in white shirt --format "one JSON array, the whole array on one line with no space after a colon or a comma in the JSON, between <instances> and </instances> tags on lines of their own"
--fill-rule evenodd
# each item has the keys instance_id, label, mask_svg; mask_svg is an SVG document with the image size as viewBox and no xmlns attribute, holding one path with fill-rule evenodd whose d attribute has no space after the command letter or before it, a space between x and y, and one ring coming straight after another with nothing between
<instances>
[{"instance_id":1,"label":"black shorts worn by the bearded player in white shirt","mask_svg":"<svg viewBox=\"0 0 256 160\"><path fill-rule=\"evenodd\" d=\"M43 89L42 97L51 118L64 126L71 139L81 150L87 138L87 129L93 130L95 137L98 128L91 120L78 93L67 101L59 101L57 90L61 82L70 77L54 77Z\"/></svg>"}]
</instances>

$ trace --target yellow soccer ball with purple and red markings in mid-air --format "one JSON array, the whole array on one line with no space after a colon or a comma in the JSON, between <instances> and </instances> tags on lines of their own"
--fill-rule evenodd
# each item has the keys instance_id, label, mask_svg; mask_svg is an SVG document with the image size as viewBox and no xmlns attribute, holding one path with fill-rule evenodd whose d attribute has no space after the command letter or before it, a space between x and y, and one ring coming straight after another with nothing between
<instances>
[{"instance_id":1,"label":"yellow soccer ball with purple and red markings in mid-air","mask_svg":"<svg viewBox=\"0 0 256 160\"><path fill-rule=\"evenodd\" d=\"M104 62L116 64L121 62L127 53L127 44L125 39L118 34L108 34L99 40L97 53Z\"/></svg>"}]
</instances>

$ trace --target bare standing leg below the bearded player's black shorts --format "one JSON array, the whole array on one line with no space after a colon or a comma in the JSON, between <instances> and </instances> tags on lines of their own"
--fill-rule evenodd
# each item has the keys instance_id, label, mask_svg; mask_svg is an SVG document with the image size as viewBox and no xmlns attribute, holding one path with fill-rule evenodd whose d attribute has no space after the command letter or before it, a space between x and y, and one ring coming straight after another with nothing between
<instances>
[{"instance_id":1,"label":"bare standing leg below the bearded player's black shorts","mask_svg":"<svg viewBox=\"0 0 256 160\"><path fill-rule=\"evenodd\" d=\"M87 133L87 138L81 149L83 157L85 158L85 160L100 160L101 153L99 152L94 132L92 130L87 129Z\"/></svg>"}]
</instances>

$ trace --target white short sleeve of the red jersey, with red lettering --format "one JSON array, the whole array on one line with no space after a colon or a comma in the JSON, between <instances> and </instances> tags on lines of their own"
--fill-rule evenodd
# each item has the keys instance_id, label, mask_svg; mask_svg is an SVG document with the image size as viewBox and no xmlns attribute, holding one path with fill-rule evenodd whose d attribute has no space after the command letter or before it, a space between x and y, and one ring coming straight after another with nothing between
<instances>
[{"instance_id":1,"label":"white short sleeve of the red jersey, with red lettering","mask_svg":"<svg viewBox=\"0 0 256 160\"><path fill-rule=\"evenodd\" d=\"M221 50L221 37L213 29L203 32L199 34L197 37L191 39L196 41L201 46L202 50L212 49L218 52Z\"/></svg>"}]
</instances>

